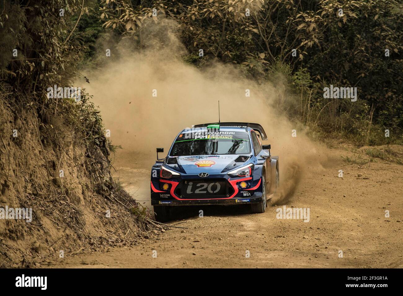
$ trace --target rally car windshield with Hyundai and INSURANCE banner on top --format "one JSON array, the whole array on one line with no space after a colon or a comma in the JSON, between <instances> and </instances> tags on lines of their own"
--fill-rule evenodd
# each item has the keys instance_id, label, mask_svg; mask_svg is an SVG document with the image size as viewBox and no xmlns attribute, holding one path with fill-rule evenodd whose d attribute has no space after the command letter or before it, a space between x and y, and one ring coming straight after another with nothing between
<instances>
[{"instance_id":1,"label":"rally car windshield with Hyundai and INSURANCE banner on top","mask_svg":"<svg viewBox=\"0 0 403 296\"><path fill-rule=\"evenodd\" d=\"M202 131L180 134L175 140L170 156L249 153L251 145L247 132Z\"/></svg>"}]
</instances>

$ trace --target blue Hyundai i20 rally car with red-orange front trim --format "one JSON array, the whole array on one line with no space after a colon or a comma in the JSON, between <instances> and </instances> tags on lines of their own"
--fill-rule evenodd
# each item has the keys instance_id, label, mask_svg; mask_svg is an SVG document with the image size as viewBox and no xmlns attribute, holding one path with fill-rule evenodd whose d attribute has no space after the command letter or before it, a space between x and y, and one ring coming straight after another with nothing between
<instances>
[{"instance_id":1,"label":"blue Hyundai i20 rally car with red-orange front trim","mask_svg":"<svg viewBox=\"0 0 403 296\"><path fill-rule=\"evenodd\" d=\"M158 221L177 205L248 204L263 213L279 184L278 156L260 124L220 122L182 130L151 170L151 204Z\"/></svg>"}]
</instances>

